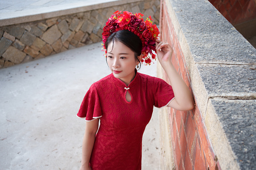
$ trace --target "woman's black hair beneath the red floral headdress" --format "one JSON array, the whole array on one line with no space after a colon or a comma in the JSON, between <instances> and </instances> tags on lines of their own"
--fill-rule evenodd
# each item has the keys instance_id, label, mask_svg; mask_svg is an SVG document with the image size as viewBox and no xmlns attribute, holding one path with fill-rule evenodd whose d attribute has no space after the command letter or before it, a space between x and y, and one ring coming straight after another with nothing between
<instances>
[{"instance_id":1,"label":"woman's black hair beneath the red floral headdress","mask_svg":"<svg viewBox=\"0 0 256 170\"><path fill-rule=\"evenodd\" d=\"M115 40L129 47L129 49L131 49L134 52L135 60L138 61L141 66L141 63L138 59L138 57L141 55L141 50L142 50L142 43L140 38L135 34L133 34L132 32L130 32L129 30L120 30L109 36L109 38L105 42L106 49L108 49L108 45L110 42L112 42L114 45ZM112 47L112 50L113 50L113 47Z\"/></svg>"}]
</instances>

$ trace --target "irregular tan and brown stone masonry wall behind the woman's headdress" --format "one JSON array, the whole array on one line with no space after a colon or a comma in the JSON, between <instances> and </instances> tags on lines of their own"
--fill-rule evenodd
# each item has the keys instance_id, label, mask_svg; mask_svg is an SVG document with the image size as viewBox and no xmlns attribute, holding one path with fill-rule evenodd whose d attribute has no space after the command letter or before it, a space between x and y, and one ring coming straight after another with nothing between
<instances>
[{"instance_id":1,"label":"irregular tan and brown stone masonry wall behind the woman's headdress","mask_svg":"<svg viewBox=\"0 0 256 170\"><path fill-rule=\"evenodd\" d=\"M100 42L105 23L117 10L142 13L144 19L151 16L154 24L159 23L159 0L122 2L119 6L113 6L114 2L106 8L0 27L0 68Z\"/></svg>"}]
</instances>

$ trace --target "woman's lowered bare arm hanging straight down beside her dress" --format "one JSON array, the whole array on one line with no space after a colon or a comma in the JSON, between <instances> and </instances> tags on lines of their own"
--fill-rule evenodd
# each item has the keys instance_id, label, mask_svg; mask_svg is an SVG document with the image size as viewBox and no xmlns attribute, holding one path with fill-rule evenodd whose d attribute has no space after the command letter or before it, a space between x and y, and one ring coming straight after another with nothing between
<instances>
[{"instance_id":1,"label":"woman's lowered bare arm hanging straight down beside her dress","mask_svg":"<svg viewBox=\"0 0 256 170\"><path fill-rule=\"evenodd\" d=\"M92 169L89 165L94 147L95 135L99 127L99 119L86 122L86 132L82 140L82 160L80 170Z\"/></svg>"}]
</instances>

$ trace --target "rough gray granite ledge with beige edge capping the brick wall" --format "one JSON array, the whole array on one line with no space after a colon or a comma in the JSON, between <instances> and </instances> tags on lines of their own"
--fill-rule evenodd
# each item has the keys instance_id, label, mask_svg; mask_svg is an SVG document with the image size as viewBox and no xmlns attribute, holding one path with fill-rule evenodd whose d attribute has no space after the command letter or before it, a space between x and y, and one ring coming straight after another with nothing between
<instances>
[{"instance_id":1,"label":"rough gray granite ledge with beige edge capping the brick wall","mask_svg":"<svg viewBox=\"0 0 256 170\"><path fill-rule=\"evenodd\" d=\"M256 49L208 1L167 0L166 4L221 168L255 167L256 143L245 141L244 135L234 134L232 128L235 122L253 117ZM215 101L219 97L226 102ZM248 123L237 128L255 131L255 126Z\"/></svg>"}]
</instances>

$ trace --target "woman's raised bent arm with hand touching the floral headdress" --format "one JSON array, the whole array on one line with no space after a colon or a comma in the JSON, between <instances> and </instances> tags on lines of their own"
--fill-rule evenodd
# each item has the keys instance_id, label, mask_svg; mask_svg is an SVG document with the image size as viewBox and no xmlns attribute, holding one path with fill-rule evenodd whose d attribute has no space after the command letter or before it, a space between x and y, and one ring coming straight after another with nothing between
<instances>
[{"instance_id":1,"label":"woman's raised bent arm with hand touching the floral headdress","mask_svg":"<svg viewBox=\"0 0 256 170\"><path fill-rule=\"evenodd\" d=\"M160 40L156 40L155 44L158 61L166 72L170 85L174 90L175 99L168 106L177 110L193 109L195 104L193 96L171 62L173 54L172 47L168 43L163 43Z\"/></svg>"}]
</instances>

